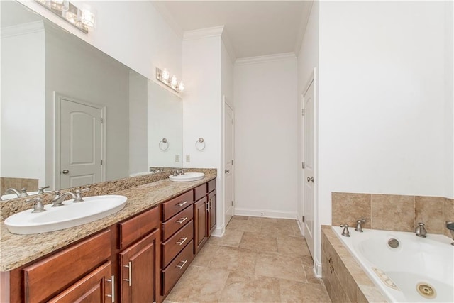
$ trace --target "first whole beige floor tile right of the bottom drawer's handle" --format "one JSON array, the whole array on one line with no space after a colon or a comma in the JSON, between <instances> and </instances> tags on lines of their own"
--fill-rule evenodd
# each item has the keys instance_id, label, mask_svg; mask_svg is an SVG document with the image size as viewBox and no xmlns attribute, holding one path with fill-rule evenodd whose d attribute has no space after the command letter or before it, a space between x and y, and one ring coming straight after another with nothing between
<instances>
[{"instance_id":1,"label":"first whole beige floor tile right of the bottom drawer's handle","mask_svg":"<svg viewBox=\"0 0 454 303\"><path fill-rule=\"evenodd\" d=\"M211 256L209 268L221 268L224 270L237 270L254 273L257 253L251 250L220 246L216 254Z\"/></svg>"}]
</instances>

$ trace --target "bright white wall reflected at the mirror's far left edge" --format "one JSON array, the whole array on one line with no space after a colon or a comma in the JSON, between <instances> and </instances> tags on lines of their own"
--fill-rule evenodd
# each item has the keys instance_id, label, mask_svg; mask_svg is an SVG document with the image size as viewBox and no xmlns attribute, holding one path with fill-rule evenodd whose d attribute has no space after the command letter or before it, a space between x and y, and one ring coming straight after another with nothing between
<instances>
[{"instance_id":1,"label":"bright white wall reflected at the mirror's far left edge","mask_svg":"<svg viewBox=\"0 0 454 303\"><path fill-rule=\"evenodd\" d=\"M45 180L44 36L38 21L2 29L1 37L1 56L9 60L1 60L0 176L39 179L40 186Z\"/></svg>"}]
</instances>

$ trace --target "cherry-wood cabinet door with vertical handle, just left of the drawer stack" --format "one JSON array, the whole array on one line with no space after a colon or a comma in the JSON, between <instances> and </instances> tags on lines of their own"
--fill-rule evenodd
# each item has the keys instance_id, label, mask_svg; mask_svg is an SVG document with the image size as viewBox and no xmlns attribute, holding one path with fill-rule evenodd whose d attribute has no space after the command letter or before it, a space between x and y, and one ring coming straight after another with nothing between
<instances>
[{"instance_id":1,"label":"cherry-wood cabinet door with vertical handle, just left of the drawer stack","mask_svg":"<svg viewBox=\"0 0 454 303\"><path fill-rule=\"evenodd\" d=\"M159 230L120 255L121 302L155 302L159 283Z\"/></svg>"}]
</instances>

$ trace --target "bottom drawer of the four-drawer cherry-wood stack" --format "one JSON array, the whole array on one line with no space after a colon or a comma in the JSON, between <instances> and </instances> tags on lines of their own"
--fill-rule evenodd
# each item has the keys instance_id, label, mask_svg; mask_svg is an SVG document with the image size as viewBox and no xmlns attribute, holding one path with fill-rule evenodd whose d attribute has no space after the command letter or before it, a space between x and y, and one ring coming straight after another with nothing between
<instances>
[{"instance_id":1,"label":"bottom drawer of the four-drawer cherry-wood stack","mask_svg":"<svg viewBox=\"0 0 454 303\"><path fill-rule=\"evenodd\" d=\"M162 270L162 295L165 296L178 281L194 258L192 241L177 255L165 270Z\"/></svg>"}]
</instances>

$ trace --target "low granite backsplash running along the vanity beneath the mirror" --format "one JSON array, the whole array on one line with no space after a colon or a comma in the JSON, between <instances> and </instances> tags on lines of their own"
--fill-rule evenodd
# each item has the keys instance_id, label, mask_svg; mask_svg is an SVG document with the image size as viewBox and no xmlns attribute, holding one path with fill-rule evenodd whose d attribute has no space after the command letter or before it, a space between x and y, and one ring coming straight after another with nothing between
<instances>
[{"instance_id":1,"label":"low granite backsplash running along the vanity beneath the mirror","mask_svg":"<svg viewBox=\"0 0 454 303\"><path fill-rule=\"evenodd\" d=\"M180 168L179 168L180 169ZM216 169L211 168L187 168L187 172L204 172L205 175L216 175ZM82 187L72 187L67 189L62 189L61 192L74 192L77 189L89 188L90 191L84 193L84 196L99 196L102 194L112 194L125 189L130 189L132 187L140 186L143 184L148 184L150 182L156 182L160 180L167 180L172 169L168 169L165 172L157 172L155 174L142 175L138 177L127 177L124 179L99 182L94 184L89 184ZM43 199L43 204L50 204L52 198L54 197L53 192L46 194L34 195L31 197L41 197ZM12 214L16 214L20 211L25 211L26 209L31 209L30 204L26 203L27 199L31 197L9 199L0 202L0 221L4 221L6 218Z\"/></svg>"}]
</instances>

